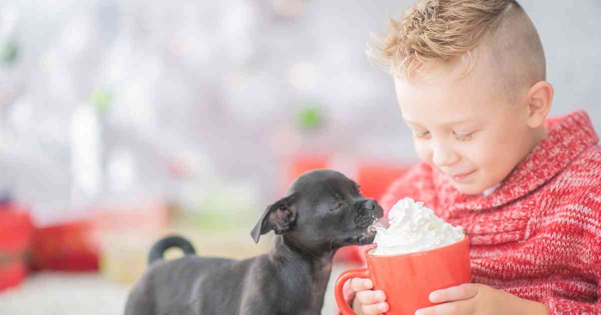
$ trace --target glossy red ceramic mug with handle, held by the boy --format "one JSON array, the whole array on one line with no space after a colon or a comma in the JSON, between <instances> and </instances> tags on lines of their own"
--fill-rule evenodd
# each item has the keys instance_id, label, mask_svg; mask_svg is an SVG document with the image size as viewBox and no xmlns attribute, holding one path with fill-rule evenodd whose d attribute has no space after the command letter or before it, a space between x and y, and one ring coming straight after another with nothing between
<instances>
[{"instance_id":1,"label":"glossy red ceramic mug with handle, held by the boy","mask_svg":"<svg viewBox=\"0 0 601 315\"><path fill-rule=\"evenodd\" d=\"M344 299L343 286L351 278L370 278L374 290L386 293L386 315L413 315L435 305L429 296L435 290L471 282L469 239L410 254L376 256L365 251L367 268L343 272L336 280L334 296L343 315L354 315Z\"/></svg>"}]
</instances>

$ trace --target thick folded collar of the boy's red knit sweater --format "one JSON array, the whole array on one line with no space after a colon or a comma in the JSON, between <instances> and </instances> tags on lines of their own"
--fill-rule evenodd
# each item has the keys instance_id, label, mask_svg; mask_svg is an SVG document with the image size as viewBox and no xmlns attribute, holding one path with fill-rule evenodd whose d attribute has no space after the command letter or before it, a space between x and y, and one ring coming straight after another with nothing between
<instances>
[{"instance_id":1,"label":"thick folded collar of the boy's red knit sweater","mask_svg":"<svg viewBox=\"0 0 601 315\"><path fill-rule=\"evenodd\" d=\"M548 134L528 156L501 182L492 193L484 196L468 195L457 191L447 176L434 171L434 182L453 209L481 210L504 205L544 185L569 166L578 155L599 138L593 124L583 110L545 121Z\"/></svg>"}]
</instances>

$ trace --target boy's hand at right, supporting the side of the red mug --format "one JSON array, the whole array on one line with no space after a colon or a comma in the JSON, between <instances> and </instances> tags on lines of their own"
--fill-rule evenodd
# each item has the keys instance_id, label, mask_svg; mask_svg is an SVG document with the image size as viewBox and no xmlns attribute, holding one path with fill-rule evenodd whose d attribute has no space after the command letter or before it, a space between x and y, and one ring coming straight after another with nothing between
<instances>
[{"instance_id":1,"label":"boy's hand at right, supporting the side of the red mug","mask_svg":"<svg viewBox=\"0 0 601 315\"><path fill-rule=\"evenodd\" d=\"M442 304L422 308L415 315L548 314L544 304L475 283L436 290L430 293L430 301Z\"/></svg>"}]
</instances>

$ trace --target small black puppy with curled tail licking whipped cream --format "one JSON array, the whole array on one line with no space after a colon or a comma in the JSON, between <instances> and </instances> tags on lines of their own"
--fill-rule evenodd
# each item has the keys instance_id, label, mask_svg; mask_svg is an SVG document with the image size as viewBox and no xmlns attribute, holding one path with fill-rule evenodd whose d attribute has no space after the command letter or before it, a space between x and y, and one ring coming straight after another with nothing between
<instances>
[{"instance_id":1,"label":"small black puppy with curled tail licking whipped cream","mask_svg":"<svg viewBox=\"0 0 601 315\"><path fill-rule=\"evenodd\" d=\"M270 230L278 235L269 253L241 261L206 258L189 255L194 248L183 238L162 239L125 314L320 314L335 250L371 243L375 232L368 227L382 215L376 200L361 196L343 174L304 173L252 229L255 242ZM174 246L186 256L160 259Z\"/></svg>"}]
</instances>

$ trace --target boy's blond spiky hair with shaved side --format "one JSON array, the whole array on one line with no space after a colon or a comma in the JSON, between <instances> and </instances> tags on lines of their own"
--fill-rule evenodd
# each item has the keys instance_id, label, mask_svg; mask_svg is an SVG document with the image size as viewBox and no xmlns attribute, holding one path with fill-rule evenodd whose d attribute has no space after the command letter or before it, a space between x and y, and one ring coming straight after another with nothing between
<instances>
[{"instance_id":1,"label":"boy's blond spiky hair with shaved side","mask_svg":"<svg viewBox=\"0 0 601 315\"><path fill-rule=\"evenodd\" d=\"M418 0L401 20L389 22L388 35L383 40L372 37L367 53L370 61L384 65L395 77L427 78L432 70L458 58L467 61L463 77L474 67L478 53L486 52L507 76L545 79L540 38L515 0ZM519 80L506 79L514 82L504 85Z\"/></svg>"}]
</instances>

